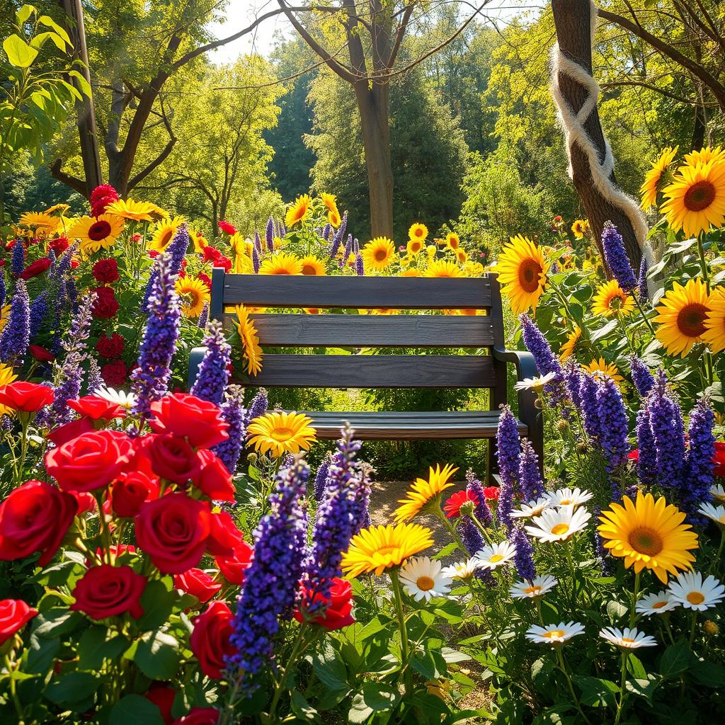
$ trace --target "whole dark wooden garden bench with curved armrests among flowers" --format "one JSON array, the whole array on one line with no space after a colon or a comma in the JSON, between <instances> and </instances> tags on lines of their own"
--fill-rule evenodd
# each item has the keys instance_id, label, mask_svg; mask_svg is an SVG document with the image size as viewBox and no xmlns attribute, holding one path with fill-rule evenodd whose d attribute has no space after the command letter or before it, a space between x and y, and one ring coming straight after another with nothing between
<instances>
[{"instance_id":1,"label":"whole dark wooden garden bench with curved armrests among flowers","mask_svg":"<svg viewBox=\"0 0 725 725\"><path fill-rule=\"evenodd\" d=\"M537 375L528 352L504 348L501 294L495 275L482 278L258 276L212 273L210 319L231 323L225 307L275 309L486 310L486 315L252 315L262 347L469 348L472 355L265 354L249 386L317 388L488 388L491 410L412 413L303 411L320 439L335 439L347 421L360 439L495 439L499 406L507 402L507 365L518 380ZM487 349L487 350L486 350ZM486 353L488 354L483 354ZM384 352L384 351L381 351ZM189 386L204 357L189 358ZM518 394L518 430L543 460L542 418L535 395ZM489 444L489 474L494 470Z\"/></svg>"}]
</instances>

